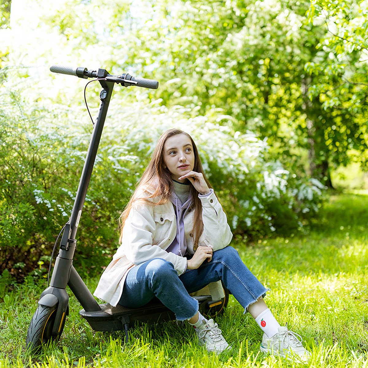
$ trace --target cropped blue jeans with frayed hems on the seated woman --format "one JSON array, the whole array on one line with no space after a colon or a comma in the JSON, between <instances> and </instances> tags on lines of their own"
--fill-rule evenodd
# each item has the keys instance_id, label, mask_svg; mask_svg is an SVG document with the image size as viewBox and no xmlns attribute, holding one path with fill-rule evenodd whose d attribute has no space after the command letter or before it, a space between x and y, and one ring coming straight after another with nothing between
<instances>
[{"instance_id":1,"label":"cropped blue jeans with frayed hems on the seated woman","mask_svg":"<svg viewBox=\"0 0 368 368\"><path fill-rule=\"evenodd\" d=\"M219 280L244 311L267 291L244 265L238 252L227 246L214 251L210 262L205 261L198 269L187 270L180 276L171 262L161 258L135 266L128 272L119 304L138 308L157 297L175 313L176 319L184 321L198 311L198 301L189 293Z\"/></svg>"}]
</instances>

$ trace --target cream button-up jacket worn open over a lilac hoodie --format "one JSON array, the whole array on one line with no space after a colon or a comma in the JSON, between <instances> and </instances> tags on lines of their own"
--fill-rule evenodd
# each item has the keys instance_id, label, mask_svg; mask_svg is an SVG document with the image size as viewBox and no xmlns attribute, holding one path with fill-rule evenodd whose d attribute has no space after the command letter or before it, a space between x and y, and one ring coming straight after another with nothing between
<instances>
[{"instance_id":1,"label":"cream button-up jacket worn open over a lilac hoodie","mask_svg":"<svg viewBox=\"0 0 368 368\"><path fill-rule=\"evenodd\" d=\"M204 224L199 245L208 245L214 251L226 247L233 235L215 193L211 190L209 195L198 197L202 202ZM189 212L184 218L184 229L190 254L194 254L191 234L193 221L193 212ZM102 273L93 295L116 306L123 293L128 271L154 258L171 262L179 276L184 273L187 259L165 251L176 236L176 227L175 210L170 201L162 205L150 205L142 201L134 204L124 224L123 241Z\"/></svg>"}]
</instances>

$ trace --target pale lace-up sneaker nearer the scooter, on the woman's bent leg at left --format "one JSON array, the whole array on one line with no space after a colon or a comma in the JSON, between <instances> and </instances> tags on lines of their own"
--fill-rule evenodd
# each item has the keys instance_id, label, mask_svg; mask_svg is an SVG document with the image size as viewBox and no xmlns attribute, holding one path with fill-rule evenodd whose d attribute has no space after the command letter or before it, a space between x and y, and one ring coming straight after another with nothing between
<instances>
[{"instance_id":1,"label":"pale lace-up sneaker nearer the scooter, on the woman's bent leg at left","mask_svg":"<svg viewBox=\"0 0 368 368\"><path fill-rule=\"evenodd\" d=\"M210 319L206 325L196 328L195 332L198 336L199 346L205 346L207 351L219 354L226 349L231 349L213 319Z\"/></svg>"}]
</instances>

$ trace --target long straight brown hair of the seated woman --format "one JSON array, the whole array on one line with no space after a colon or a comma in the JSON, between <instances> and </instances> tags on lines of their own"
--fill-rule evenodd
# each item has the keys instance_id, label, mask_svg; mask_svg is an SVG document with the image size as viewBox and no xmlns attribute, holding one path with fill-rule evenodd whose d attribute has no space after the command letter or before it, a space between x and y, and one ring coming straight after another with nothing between
<instances>
[{"instance_id":1,"label":"long straight brown hair of the seated woman","mask_svg":"<svg viewBox=\"0 0 368 368\"><path fill-rule=\"evenodd\" d=\"M184 134L188 138L190 138L194 153L193 171L196 171L197 173L202 173L204 180L206 181L208 187L210 187L210 183L206 178L205 173L203 172L203 167L201 159L199 158L197 146L195 145L192 137L188 133L180 129L167 130L159 138L155 150L153 151L151 161L146 167L141 180L139 180L137 188L132 194L126 208L120 215L120 243L122 243L123 241L123 228L125 221L135 201L144 201L149 205L154 206L164 204L170 200L170 194L173 191L173 182L171 179L171 173L164 163L163 151L167 139L178 134ZM199 237L203 232L202 203L201 200L198 198L198 192L197 190L195 190L193 185L190 185L190 192L193 201L192 209L194 210L194 223L192 233L194 240L194 249L196 249L198 247Z\"/></svg>"}]
</instances>

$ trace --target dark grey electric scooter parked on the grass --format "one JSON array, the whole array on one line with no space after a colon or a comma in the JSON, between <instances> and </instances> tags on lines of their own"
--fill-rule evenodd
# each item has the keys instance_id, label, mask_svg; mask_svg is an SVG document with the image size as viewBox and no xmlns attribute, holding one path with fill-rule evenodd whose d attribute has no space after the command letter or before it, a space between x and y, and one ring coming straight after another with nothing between
<instances>
[{"instance_id":1,"label":"dark grey electric scooter parked on the grass","mask_svg":"<svg viewBox=\"0 0 368 368\"><path fill-rule=\"evenodd\" d=\"M96 78L102 90L100 91L100 106L98 117L93 124L93 131L86 154L84 167L75 196L74 205L68 222L63 227L59 254L56 257L50 286L41 294L38 307L29 324L26 344L32 350L38 350L43 344L57 342L63 333L66 317L69 314L69 296L67 286L82 305L79 314L88 321L95 331L124 331L125 342L129 341L128 330L136 321L158 321L175 319L173 312L166 308L158 299L140 308L125 308L120 305L98 304L88 290L77 270L73 266L73 256L77 247L77 230L81 221L82 208L86 197L92 169L95 162L107 109L113 92L114 84L124 87L138 86L157 89L158 81L133 77L124 73L119 76L109 74L105 69L88 70L78 67L70 68L59 65L50 67L50 71L74 75L79 78ZM59 234L59 235L60 235ZM58 237L59 238L59 237ZM57 239L58 240L58 239ZM56 241L57 242L57 241ZM52 262L52 260L50 261ZM199 308L204 315L214 315L223 311L227 305L229 292L224 288L223 297L213 300L211 295L194 296L199 302Z\"/></svg>"}]
</instances>

